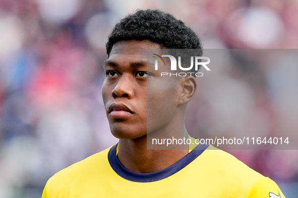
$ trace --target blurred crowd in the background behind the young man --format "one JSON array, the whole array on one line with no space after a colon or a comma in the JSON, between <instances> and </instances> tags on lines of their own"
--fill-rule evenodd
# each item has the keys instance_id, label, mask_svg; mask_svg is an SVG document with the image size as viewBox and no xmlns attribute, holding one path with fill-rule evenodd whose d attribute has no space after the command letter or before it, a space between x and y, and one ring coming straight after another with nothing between
<instances>
[{"instance_id":1,"label":"blurred crowd in the background behind the young man","mask_svg":"<svg viewBox=\"0 0 298 198\"><path fill-rule=\"evenodd\" d=\"M52 174L117 142L101 98L105 42L145 8L187 22L204 48L298 47L296 0L0 0L0 197L40 197ZM198 79L191 131L296 132L297 53L260 54L222 55L230 64ZM277 182L298 180L297 150L230 152Z\"/></svg>"}]
</instances>

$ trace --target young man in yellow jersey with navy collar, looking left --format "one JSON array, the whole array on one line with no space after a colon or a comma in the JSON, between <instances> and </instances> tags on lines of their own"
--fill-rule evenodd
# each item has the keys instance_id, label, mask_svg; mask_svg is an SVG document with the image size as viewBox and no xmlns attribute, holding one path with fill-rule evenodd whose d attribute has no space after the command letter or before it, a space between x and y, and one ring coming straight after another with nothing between
<instances>
[{"instance_id":1,"label":"young man in yellow jersey with navy collar, looking left","mask_svg":"<svg viewBox=\"0 0 298 198\"><path fill-rule=\"evenodd\" d=\"M119 143L56 173L42 197L284 197L274 181L212 146L147 150L152 133L189 138L185 110L197 87L192 75L160 76L170 68L147 65L147 49L201 48L190 28L158 10L116 24L102 96Z\"/></svg>"}]
</instances>

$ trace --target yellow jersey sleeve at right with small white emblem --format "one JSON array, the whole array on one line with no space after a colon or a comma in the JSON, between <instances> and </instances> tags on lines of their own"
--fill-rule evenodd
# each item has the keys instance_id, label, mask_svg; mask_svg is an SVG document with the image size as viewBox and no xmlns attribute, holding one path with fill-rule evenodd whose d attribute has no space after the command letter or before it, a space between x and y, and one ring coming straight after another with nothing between
<instances>
[{"instance_id":1,"label":"yellow jersey sleeve at right with small white emblem","mask_svg":"<svg viewBox=\"0 0 298 198\"><path fill-rule=\"evenodd\" d=\"M247 198L285 198L278 185L269 177L260 178L252 187Z\"/></svg>"}]
</instances>

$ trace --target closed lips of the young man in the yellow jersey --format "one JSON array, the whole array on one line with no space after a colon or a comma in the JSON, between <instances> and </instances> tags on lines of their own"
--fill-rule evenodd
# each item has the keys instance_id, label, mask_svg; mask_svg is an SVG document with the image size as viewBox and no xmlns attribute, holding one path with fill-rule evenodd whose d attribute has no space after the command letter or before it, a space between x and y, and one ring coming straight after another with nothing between
<instances>
[{"instance_id":1,"label":"closed lips of the young man in the yellow jersey","mask_svg":"<svg viewBox=\"0 0 298 198\"><path fill-rule=\"evenodd\" d=\"M112 103L108 107L107 113L114 119L126 119L134 114L134 112L124 104Z\"/></svg>"}]
</instances>

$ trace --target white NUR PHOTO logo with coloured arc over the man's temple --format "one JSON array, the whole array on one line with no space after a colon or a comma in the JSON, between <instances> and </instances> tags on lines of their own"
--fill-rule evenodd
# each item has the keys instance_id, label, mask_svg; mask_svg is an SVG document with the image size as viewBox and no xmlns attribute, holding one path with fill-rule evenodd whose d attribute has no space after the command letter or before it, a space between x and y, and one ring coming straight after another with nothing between
<instances>
[{"instance_id":1,"label":"white NUR PHOTO logo with coloured arc over the man's temple","mask_svg":"<svg viewBox=\"0 0 298 198\"><path fill-rule=\"evenodd\" d=\"M171 62L171 70L172 71L177 71L177 60L174 56L172 55L157 55L157 54L153 54L155 56L153 56L154 58L156 58L155 60L155 70L158 70L158 61L161 63L161 65L165 66L165 61L162 57L167 57L170 59ZM200 68L200 65L202 65L207 71L210 71L210 68L207 66L207 64L210 63L210 58L206 57L206 56L191 56L191 65L189 67L183 67L181 65L181 56L178 56L178 67L180 70L182 71L190 71L193 70L193 67L195 66L195 71L196 72L176 72L176 73L168 73L168 72L161 72L161 76L164 75L169 75L169 76L187 76L187 75L196 75L196 76L203 76L204 74L202 72L197 72ZM194 59L195 59L195 64L194 64ZM201 62L201 60L207 60L205 62Z\"/></svg>"}]
</instances>

